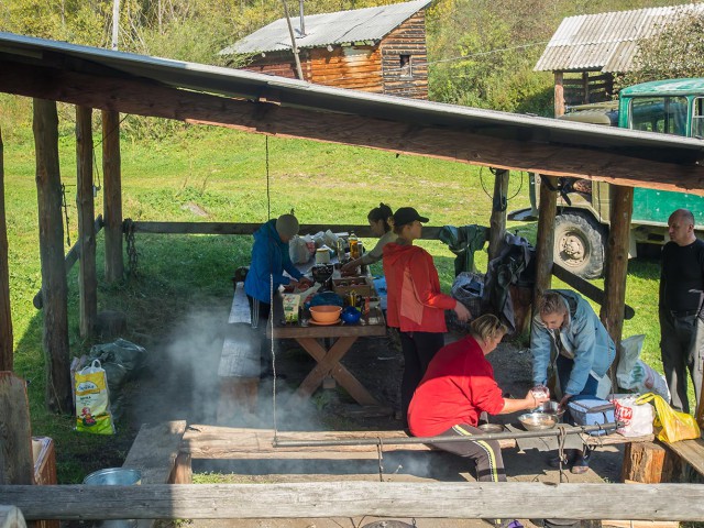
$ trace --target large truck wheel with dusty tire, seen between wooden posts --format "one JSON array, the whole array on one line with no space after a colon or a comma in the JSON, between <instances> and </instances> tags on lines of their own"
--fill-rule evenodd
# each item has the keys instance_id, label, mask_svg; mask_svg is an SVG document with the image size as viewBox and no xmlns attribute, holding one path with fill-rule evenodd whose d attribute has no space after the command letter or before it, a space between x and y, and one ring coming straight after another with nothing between
<instances>
[{"instance_id":1,"label":"large truck wheel with dusty tire, seen between wooden posts","mask_svg":"<svg viewBox=\"0 0 704 528\"><path fill-rule=\"evenodd\" d=\"M606 237L602 226L580 213L558 215L554 220L554 262L583 278L604 273Z\"/></svg>"}]
</instances>

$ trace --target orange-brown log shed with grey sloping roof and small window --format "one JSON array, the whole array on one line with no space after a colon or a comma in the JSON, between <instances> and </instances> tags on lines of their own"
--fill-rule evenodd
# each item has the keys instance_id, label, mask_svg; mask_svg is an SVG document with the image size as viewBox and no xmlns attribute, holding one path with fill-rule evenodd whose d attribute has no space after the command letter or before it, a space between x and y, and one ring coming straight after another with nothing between
<instances>
[{"instance_id":1,"label":"orange-brown log shed with grey sloping roof and small window","mask_svg":"<svg viewBox=\"0 0 704 528\"><path fill-rule=\"evenodd\" d=\"M375 94L428 98L426 8L430 0L292 19L302 80ZM235 42L244 69L297 78L287 19Z\"/></svg>"}]
</instances>

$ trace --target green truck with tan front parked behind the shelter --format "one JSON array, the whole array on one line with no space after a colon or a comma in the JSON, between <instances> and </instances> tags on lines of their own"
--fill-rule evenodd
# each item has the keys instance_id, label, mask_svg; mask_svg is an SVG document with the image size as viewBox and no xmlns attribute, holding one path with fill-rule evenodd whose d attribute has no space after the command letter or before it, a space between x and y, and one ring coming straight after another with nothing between
<instances>
[{"instance_id":1,"label":"green truck with tan front parked behind the shelter","mask_svg":"<svg viewBox=\"0 0 704 528\"><path fill-rule=\"evenodd\" d=\"M704 78L644 82L620 90L618 101L572 107L559 119L646 130L704 140ZM509 220L537 218L537 179L531 180L530 209L509 213ZM604 271L609 226L609 184L561 178L554 227L554 262L575 275L597 278ZM686 208L704 238L704 197L636 187L630 256L652 254L668 241L668 218Z\"/></svg>"}]
</instances>

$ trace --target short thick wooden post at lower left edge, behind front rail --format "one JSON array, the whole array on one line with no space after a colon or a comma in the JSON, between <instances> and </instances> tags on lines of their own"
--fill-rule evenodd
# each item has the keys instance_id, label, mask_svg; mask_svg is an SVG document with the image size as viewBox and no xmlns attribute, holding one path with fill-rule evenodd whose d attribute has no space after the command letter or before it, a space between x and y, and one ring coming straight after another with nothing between
<instances>
[{"instance_id":1,"label":"short thick wooden post at lower left edge, behind front rail","mask_svg":"<svg viewBox=\"0 0 704 528\"><path fill-rule=\"evenodd\" d=\"M7 371L0 372L0 484L34 484L26 381Z\"/></svg>"}]
</instances>

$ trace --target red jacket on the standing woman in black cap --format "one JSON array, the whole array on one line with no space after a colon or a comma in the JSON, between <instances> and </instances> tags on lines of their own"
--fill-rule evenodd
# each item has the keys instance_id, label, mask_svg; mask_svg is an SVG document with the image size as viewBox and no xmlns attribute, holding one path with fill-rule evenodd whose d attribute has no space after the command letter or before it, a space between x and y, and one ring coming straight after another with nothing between
<instances>
[{"instance_id":1,"label":"red jacket on the standing woman in black cap","mask_svg":"<svg viewBox=\"0 0 704 528\"><path fill-rule=\"evenodd\" d=\"M384 246L387 323L402 332L444 333L444 310L458 301L440 293L432 256L416 245L389 242Z\"/></svg>"}]
</instances>

